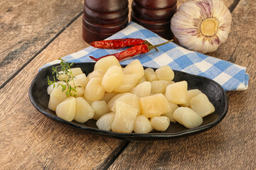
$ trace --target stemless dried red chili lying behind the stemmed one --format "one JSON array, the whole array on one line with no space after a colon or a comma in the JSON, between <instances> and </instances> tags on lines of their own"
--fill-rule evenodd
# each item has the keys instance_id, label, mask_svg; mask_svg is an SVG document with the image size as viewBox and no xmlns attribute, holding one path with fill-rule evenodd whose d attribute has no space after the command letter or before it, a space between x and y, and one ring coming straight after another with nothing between
<instances>
[{"instance_id":1,"label":"stemless dried red chili lying behind the stemmed one","mask_svg":"<svg viewBox=\"0 0 256 170\"><path fill-rule=\"evenodd\" d=\"M100 40L91 42L92 47L104 48L104 49L118 49L122 47L129 47L135 45L151 45L148 41L139 38L123 38L116 40Z\"/></svg>"}]
</instances>

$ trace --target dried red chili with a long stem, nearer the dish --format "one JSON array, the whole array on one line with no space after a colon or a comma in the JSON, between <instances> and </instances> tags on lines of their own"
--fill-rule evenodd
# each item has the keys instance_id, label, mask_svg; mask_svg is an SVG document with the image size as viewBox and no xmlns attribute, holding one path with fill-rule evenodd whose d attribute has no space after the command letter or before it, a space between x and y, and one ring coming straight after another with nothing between
<instances>
[{"instance_id":1,"label":"dried red chili with a long stem, nearer the dish","mask_svg":"<svg viewBox=\"0 0 256 170\"><path fill-rule=\"evenodd\" d=\"M159 45L136 45L134 47L129 47L127 50L124 50L122 52L118 52L118 53L115 53L115 54L112 54L114 55L114 57L117 58L118 61L122 61L122 60L126 60L130 57L134 57L134 55L139 55L139 54L143 54L143 53L146 53L146 52L149 52L150 50L152 49L156 49L156 47L159 47L161 45L165 45L169 42L171 42L173 40L169 40L167 42L164 42L164 43L161 43ZM99 57L99 58L95 58L95 57L92 57L92 56L89 56L92 60L94 60L95 62L97 62L98 60L104 58L104 57L108 57L110 55L105 55L105 56L102 56L102 57Z\"/></svg>"}]
</instances>

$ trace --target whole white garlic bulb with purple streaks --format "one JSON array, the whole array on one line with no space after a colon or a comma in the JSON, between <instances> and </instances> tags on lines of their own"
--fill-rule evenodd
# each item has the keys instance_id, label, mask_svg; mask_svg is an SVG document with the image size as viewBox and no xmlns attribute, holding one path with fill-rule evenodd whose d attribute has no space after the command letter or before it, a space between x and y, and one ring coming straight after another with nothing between
<instances>
[{"instance_id":1,"label":"whole white garlic bulb with purple streaks","mask_svg":"<svg viewBox=\"0 0 256 170\"><path fill-rule=\"evenodd\" d=\"M171 31L181 46L201 53L214 52L228 39L232 16L221 0L192 0L171 18Z\"/></svg>"}]
</instances>

